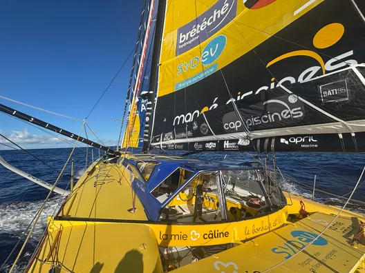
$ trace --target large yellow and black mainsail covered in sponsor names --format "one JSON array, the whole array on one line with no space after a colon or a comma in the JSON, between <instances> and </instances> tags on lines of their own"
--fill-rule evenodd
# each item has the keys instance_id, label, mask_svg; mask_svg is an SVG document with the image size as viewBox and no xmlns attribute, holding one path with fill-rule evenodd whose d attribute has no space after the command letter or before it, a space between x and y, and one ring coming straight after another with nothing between
<instances>
[{"instance_id":1,"label":"large yellow and black mainsail covered in sponsor names","mask_svg":"<svg viewBox=\"0 0 365 273\"><path fill-rule=\"evenodd\" d=\"M365 151L364 1L168 0L153 148Z\"/></svg>"}]
</instances>

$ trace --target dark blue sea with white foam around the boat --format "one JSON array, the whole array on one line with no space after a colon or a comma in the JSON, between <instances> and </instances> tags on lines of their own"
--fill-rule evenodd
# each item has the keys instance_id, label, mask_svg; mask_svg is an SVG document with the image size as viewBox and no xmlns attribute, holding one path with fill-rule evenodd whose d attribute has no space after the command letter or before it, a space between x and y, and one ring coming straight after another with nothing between
<instances>
[{"instance_id":1,"label":"dark blue sea with white foam around the boat","mask_svg":"<svg viewBox=\"0 0 365 273\"><path fill-rule=\"evenodd\" d=\"M19 150L0 150L0 156L20 170L53 184L57 179L58 172L62 170L71 148L28 150L28 152L37 156L55 170ZM96 160L99 154L98 150L94 149L93 154ZM250 155L236 152L227 155L223 152L216 152L192 154L190 156L199 156L203 160L223 159L227 156L228 159L252 161ZM72 158L75 163L75 176L77 178L81 176L86 167L86 148L77 148ZM90 165L91 162L91 149L89 148L87 165ZM301 194L306 197L312 196L310 188L299 185L297 182L312 186L314 176L317 175L317 189L341 196L353 190L362 168L364 168L365 154L277 153L277 164L281 172L286 175L284 179L281 179L281 186L284 190L290 190L294 194ZM70 178L71 163L66 166L58 187L66 188ZM21 238L21 234L32 221L47 194L48 190L45 188L41 188L39 185L10 172L0 165L0 267L17 244L17 241L19 241L19 238ZM315 197L321 201L332 202L335 205L341 205L346 201L322 192L317 192ZM359 186L353 199L365 201L365 183ZM24 269L46 228L46 217L57 212L62 200L63 197L57 194L52 194L50 197L46 209L32 234L30 243L26 245L21 255L21 262L17 267L17 271ZM359 212L365 212L364 207L356 202L351 202L350 205L351 210ZM21 244L18 245L15 251L16 254L20 247ZM8 266L15 260L16 254L11 256L6 267L3 267L0 272L8 271Z\"/></svg>"}]
</instances>

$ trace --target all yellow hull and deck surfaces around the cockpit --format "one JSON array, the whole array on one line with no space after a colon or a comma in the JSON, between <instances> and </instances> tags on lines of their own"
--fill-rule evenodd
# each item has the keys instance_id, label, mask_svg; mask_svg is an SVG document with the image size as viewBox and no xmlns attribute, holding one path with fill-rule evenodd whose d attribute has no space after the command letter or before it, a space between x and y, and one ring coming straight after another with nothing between
<instances>
[{"instance_id":1,"label":"all yellow hull and deck surfaces around the cockpit","mask_svg":"<svg viewBox=\"0 0 365 273\"><path fill-rule=\"evenodd\" d=\"M27 272L164 272L159 245L225 243L232 248L176 271L257 273L283 262L272 272L364 272L364 237L356 248L350 244L365 221L360 214L342 212L319 243L299 252L334 219L338 208L286 194L288 205L253 219L152 223L131 191L131 181L133 174L123 165L94 163L88 168L57 216L48 218L48 233ZM305 219L299 214L300 201L310 213ZM132 202L135 212L129 210Z\"/></svg>"}]
</instances>

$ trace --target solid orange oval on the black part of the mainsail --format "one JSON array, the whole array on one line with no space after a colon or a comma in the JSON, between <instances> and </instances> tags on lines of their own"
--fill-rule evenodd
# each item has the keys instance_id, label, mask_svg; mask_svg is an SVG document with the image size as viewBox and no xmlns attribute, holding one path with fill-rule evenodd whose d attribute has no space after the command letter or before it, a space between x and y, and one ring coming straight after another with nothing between
<instances>
[{"instance_id":1,"label":"solid orange oval on the black part of the mainsail","mask_svg":"<svg viewBox=\"0 0 365 273\"><path fill-rule=\"evenodd\" d=\"M330 23L329 25L321 28L321 30L315 34L315 38L313 38L313 45L320 49L329 48L341 39L344 32L345 28L341 25L341 23Z\"/></svg>"}]
</instances>

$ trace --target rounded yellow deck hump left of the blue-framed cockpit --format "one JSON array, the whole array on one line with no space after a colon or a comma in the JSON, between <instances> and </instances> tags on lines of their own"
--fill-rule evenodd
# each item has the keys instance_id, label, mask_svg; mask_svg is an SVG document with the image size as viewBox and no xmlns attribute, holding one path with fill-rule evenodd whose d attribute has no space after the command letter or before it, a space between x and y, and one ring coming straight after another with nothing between
<instances>
[{"instance_id":1,"label":"rounded yellow deck hump left of the blue-framed cockpit","mask_svg":"<svg viewBox=\"0 0 365 273\"><path fill-rule=\"evenodd\" d=\"M131 192L131 172L116 164L95 165L79 179L57 216L87 219L147 220L142 203ZM134 213L132 202L137 210Z\"/></svg>"}]
</instances>

